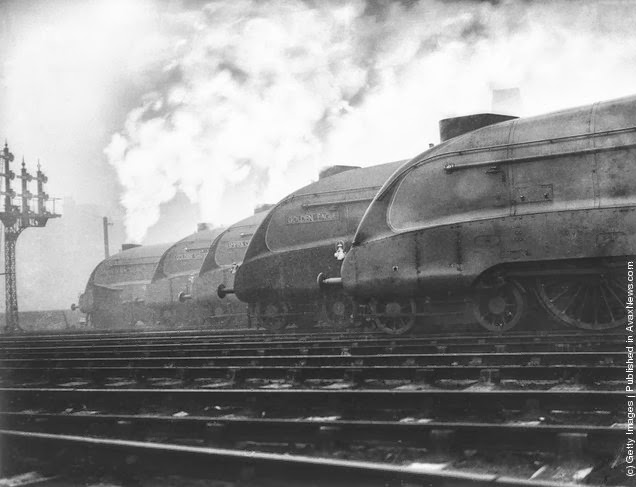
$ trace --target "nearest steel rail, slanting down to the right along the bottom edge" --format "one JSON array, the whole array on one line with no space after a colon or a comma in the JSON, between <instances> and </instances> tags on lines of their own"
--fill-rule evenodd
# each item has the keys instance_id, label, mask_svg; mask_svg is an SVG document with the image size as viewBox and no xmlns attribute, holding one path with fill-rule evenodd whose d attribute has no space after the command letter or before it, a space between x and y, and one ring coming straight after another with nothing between
<instances>
[{"instance_id":1,"label":"nearest steel rail, slanting down to the right along the bottom edge","mask_svg":"<svg viewBox=\"0 0 636 488\"><path fill-rule=\"evenodd\" d=\"M385 463L345 461L231 449L193 447L83 436L0 430L9 450L29 449L40 460L86 462L85 469L117 466L128 479L147 479L148 473L181 474L202 479L225 479L242 484L302 486L425 484L435 486L554 486L554 482L525 480L451 470L424 470ZM55 453L54 456L51 453ZM131 457L132 456L132 457ZM126 469L128 467L128 469ZM248 468L246 471L245 468ZM248 479L246 479L248 477ZM251 483L249 480L252 480ZM270 483L266 483L269 480Z\"/></svg>"}]
</instances>

